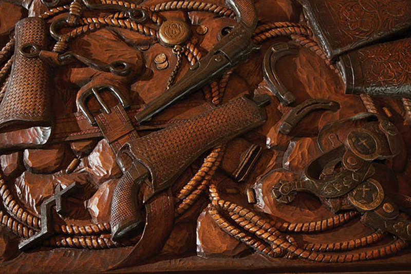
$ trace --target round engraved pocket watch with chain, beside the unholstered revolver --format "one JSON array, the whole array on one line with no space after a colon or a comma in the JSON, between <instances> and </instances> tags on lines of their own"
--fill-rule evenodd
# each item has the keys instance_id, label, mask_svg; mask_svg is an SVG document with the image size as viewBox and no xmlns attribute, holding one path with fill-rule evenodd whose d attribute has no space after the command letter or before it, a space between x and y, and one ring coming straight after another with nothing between
<instances>
[{"instance_id":1,"label":"round engraved pocket watch with chain, beside the unholstered revolver","mask_svg":"<svg viewBox=\"0 0 411 274\"><path fill-rule=\"evenodd\" d=\"M183 21L167 20L160 26L158 37L161 44L175 46L189 39L190 29Z\"/></svg>"}]
</instances>

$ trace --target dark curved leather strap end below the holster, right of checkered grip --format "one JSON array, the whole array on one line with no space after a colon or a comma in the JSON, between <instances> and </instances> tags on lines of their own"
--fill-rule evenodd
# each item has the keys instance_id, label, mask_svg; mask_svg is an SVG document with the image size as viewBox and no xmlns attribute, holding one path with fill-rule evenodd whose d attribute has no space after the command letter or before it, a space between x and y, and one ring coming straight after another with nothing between
<instances>
[{"instance_id":1,"label":"dark curved leather strap end below the holster, right of checkered grip","mask_svg":"<svg viewBox=\"0 0 411 274\"><path fill-rule=\"evenodd\" d=\"M145 212L145 227L140 240L125 259L108 270L135 266L160 251L173 228L174 201L171 189L151 198L145 204Z\"/></svg>"}]
</instances>

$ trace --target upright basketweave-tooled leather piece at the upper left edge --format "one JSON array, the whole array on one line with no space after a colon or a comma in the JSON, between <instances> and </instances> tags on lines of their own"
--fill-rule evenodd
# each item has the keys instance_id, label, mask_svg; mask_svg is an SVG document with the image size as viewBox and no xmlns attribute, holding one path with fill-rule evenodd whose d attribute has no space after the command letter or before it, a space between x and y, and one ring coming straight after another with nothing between
<instances>
[{"instance_id":1,"label":"upright basketweave-tooled leather piece at the upper left edge","mask_svg":"<svg viewBox=\"0 0 411 274\"><path fill-rule=\"evenodd\" d=\"M15 40L11 75L0 105L0 131L9 125L50 126L50 69L39 58L40 50L47 49L46 23L38 17L19 21Z\"/></svg>"}]
</instances>

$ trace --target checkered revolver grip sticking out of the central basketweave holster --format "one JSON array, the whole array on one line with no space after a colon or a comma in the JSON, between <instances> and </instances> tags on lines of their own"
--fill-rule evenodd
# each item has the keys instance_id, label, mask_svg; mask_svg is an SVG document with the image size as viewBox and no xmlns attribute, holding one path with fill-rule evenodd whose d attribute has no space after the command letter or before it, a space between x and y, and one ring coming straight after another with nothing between
<instances>
[{"instance_id":1,"label":"checkered revolver grip sticking out of the central basketweave holster","mask_svg":"<svg viewBox=\"0 0 411 274\"><path fill-rule=\"evenodd\" d=\"M141 232L144 228L144 216L137 199L140 183L126 172L114 189L110 213L111 239L113 241L130 236L131 233Z\"/></svg>"}]
</instances>

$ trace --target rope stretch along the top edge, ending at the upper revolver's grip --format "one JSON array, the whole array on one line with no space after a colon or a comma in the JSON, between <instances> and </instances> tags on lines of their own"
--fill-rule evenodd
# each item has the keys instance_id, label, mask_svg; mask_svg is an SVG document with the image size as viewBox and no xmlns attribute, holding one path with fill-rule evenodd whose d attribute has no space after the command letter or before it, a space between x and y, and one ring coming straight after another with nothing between
<instances>
[{"instance_id":1,"label":"rope stretch along the top edge, ending at the upper revolver's grip","mask_svg":"<svg viewBox=\"0 0 411 274\"><path fill-rule=\"evenodd\" d=\"M207 11L216 13L219 16L223 17L235 17L233 10L221 7L211 3L203 3L198 1L169 1L160 3L150 7L150 10L161 12L161 11L170 11L170 10L188 10L188 11Z\"/></svg>"}]
</instances>

